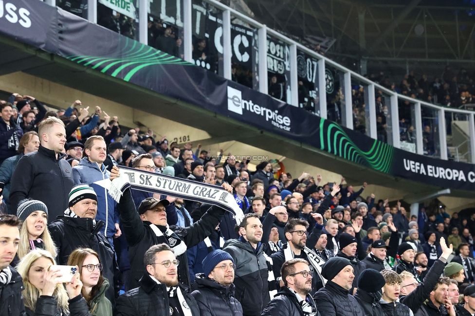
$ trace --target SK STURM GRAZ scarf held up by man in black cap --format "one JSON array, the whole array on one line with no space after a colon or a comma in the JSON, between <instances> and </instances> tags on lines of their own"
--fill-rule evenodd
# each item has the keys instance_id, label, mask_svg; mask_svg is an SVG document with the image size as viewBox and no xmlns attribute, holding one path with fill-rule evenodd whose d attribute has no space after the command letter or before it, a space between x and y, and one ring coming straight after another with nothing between
<instances>
[{"instance_id":1,"label":"SK STURM GRAZ scarf held up by man in black cap","mask_svg":"<svg viewBox=\"0 0 475 316\"><path fill-rule=\"evenodd\" d=\"M218 206L231 212L237 225L244 219L244 213L233 194L222 187L122 166L119 170L120 175L112 182L109 179L95 182L108 189L110 196L117 202L122 193L131 188Z\"/></svg>"}]
</instances>

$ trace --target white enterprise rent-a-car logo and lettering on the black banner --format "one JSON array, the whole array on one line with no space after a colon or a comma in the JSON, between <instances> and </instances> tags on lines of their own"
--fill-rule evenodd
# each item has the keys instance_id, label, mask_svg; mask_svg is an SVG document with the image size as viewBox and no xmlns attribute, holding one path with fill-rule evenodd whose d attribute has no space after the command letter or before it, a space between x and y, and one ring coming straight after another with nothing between
<instances>
[{"instance_id":1,"label":"white enterprise rent-a-car logo and lettering on the black banner","mask_svg":"<svg viewBox=\"0 0 475 316\"><path fill-rule=\"evenodd\" d=\"M254 104L252 100L242 100L242 92L240 90L228 87L228 110L242 115L243 109L257 115L265 115L267 122L271 120L271 124L275 127L290 131L291 120L289 117L280 115L278 110L273 111L264 106Z\"/></svg>"}]
</instances>

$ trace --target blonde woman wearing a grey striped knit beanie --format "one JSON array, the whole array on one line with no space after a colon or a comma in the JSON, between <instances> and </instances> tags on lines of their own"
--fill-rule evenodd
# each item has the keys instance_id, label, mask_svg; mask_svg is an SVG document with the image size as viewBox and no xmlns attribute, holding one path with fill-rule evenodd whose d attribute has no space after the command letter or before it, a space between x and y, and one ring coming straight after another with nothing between
<instances>
[{"instance_id":1,"label":"blonde woman wearing a grey striped knit beanie","mask_svg":"<svg viewBox=\"0 0 475 316\"><path fill-rule=\"evenodd\" d=\"M16 265L31 250L47 250L56 258L55 242L48 231L48 209L38 200L25 199L20 201L17 217L23 223L20 228L20 243L17 256L12 265Z\"/></svg>"}]
</instances>

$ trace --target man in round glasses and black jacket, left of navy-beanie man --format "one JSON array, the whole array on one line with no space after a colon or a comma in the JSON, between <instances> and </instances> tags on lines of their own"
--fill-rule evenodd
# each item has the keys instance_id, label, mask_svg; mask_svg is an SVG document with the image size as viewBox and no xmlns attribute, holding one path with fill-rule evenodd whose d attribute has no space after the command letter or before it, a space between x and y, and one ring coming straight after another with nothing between
<instances>
[{"instance_id":1,"label":"man in round glasses and black jacket, left of navy-beanie man","mask_svg":"<svg viewBox=\"0 0 475 316\"><path fill-rule=\"evenodd\" d=\"M148 248L144 263L138 287L117 299L117 316L200 316L189 289L178 282L178 266L183 263L168 245Z\"/></svg>"}]
</instances>

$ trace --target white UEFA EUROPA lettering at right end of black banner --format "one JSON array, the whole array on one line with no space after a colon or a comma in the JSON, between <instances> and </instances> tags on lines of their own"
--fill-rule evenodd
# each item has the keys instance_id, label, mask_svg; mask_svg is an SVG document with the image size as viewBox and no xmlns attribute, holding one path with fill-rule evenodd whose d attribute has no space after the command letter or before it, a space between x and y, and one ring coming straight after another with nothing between
<instances>
[{"instance_id":1,"label":"white UEFA EUROPA lettering at right end of black banner","mask_svg":"<svg viewBox=\"0 0 475 316\"><path fill-rule=\"evenodd\" d=\"M467 178L463 173L463 170L443 168L438 166L427 165L424 166L422 162L414 161L404 158L404 169L415 174L431 176L433 178L456 180L467 182ZM427 169L427 172L426 172ZM468 180L475 183L475 173L470 171L468 173Z\"/></svg>"}]
</instances>

